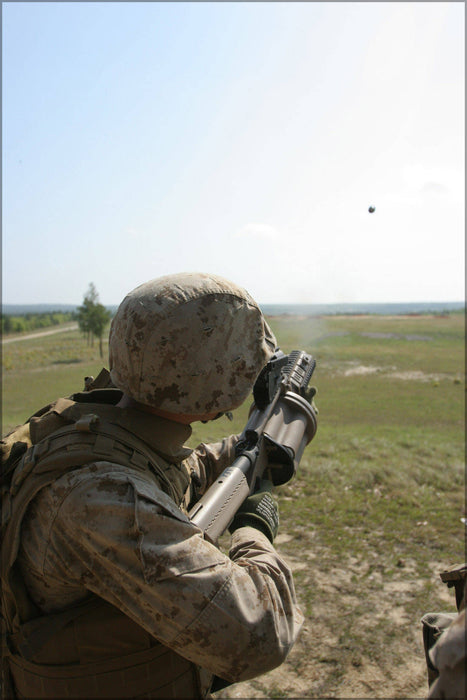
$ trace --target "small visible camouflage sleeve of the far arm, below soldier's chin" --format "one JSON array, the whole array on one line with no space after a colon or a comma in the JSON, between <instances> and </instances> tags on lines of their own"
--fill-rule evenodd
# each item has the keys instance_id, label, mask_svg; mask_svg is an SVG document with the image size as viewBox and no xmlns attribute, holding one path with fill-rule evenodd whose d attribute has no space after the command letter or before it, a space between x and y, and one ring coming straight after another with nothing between
<instances>
[{"instance_id":1,"label":"small visible camouflage sleeve of the far arm, below soldier's chin","mask_svg":"<svg viewBox=\"0 0 467 700\"><path fill-rule=\"evenodd\" d=\"M196 495L202 496L207 488L217 479L235 459L235 446L239 435L231 435L220 442L206 445L201 443L185 460L188 472L196 475Z\"/></svg>"}]
</instances>

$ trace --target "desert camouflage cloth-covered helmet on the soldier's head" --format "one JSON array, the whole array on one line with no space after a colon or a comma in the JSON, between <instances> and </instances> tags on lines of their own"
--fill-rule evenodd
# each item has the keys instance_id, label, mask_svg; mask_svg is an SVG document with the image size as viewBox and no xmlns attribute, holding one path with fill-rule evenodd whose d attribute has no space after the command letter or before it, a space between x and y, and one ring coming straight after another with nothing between
<instances>
[{"instance_id":1,"label":"desert camouflage cloth-covered helmet on the soldier's head","mask_svg":"<svg viewBox=\"0 0 467 700\"><path fill-rule=\"evenodd\" d=\"M276 348L256 302L204 273L167 275L127 294L109 337L113 383L175 414L239 406Z\"/></svg>"}]
</instances>

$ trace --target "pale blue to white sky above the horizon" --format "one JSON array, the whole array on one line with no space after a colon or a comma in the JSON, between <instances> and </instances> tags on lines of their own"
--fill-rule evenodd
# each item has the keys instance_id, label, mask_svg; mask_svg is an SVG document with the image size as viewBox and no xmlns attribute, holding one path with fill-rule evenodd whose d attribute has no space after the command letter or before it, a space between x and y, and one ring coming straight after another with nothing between
<instances>
[{"instance_id":1,"label":"pale blue to white sky above the horizon","mask_svg":"<svg viewBox=\"0 0 467 700\"><path fill-rule=\"evenodd\" d=\"M260 304L463 300L464 15L3 2L3 303L183 271Z\"/></svg>"}]
</instances>

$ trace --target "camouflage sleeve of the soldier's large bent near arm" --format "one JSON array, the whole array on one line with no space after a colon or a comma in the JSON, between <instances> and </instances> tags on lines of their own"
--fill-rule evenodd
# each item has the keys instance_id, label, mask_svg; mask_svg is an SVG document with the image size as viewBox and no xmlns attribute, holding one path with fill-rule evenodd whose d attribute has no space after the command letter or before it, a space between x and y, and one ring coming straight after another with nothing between
<instances>
[{"instance_id":1,"label":"camouflage sleeve of the soldier's large bent near arm","mask_svg":"<svg viewBox=\"0 0 467 700\"><path fill-rule=\"evenodd\" d=\"M237 530L229 558L168 497L125 474L75 475L53 500L47 585L84 586L230 681L285 659L303 617L289 567L260 532Z\"/></svg>"}]
</instances>

